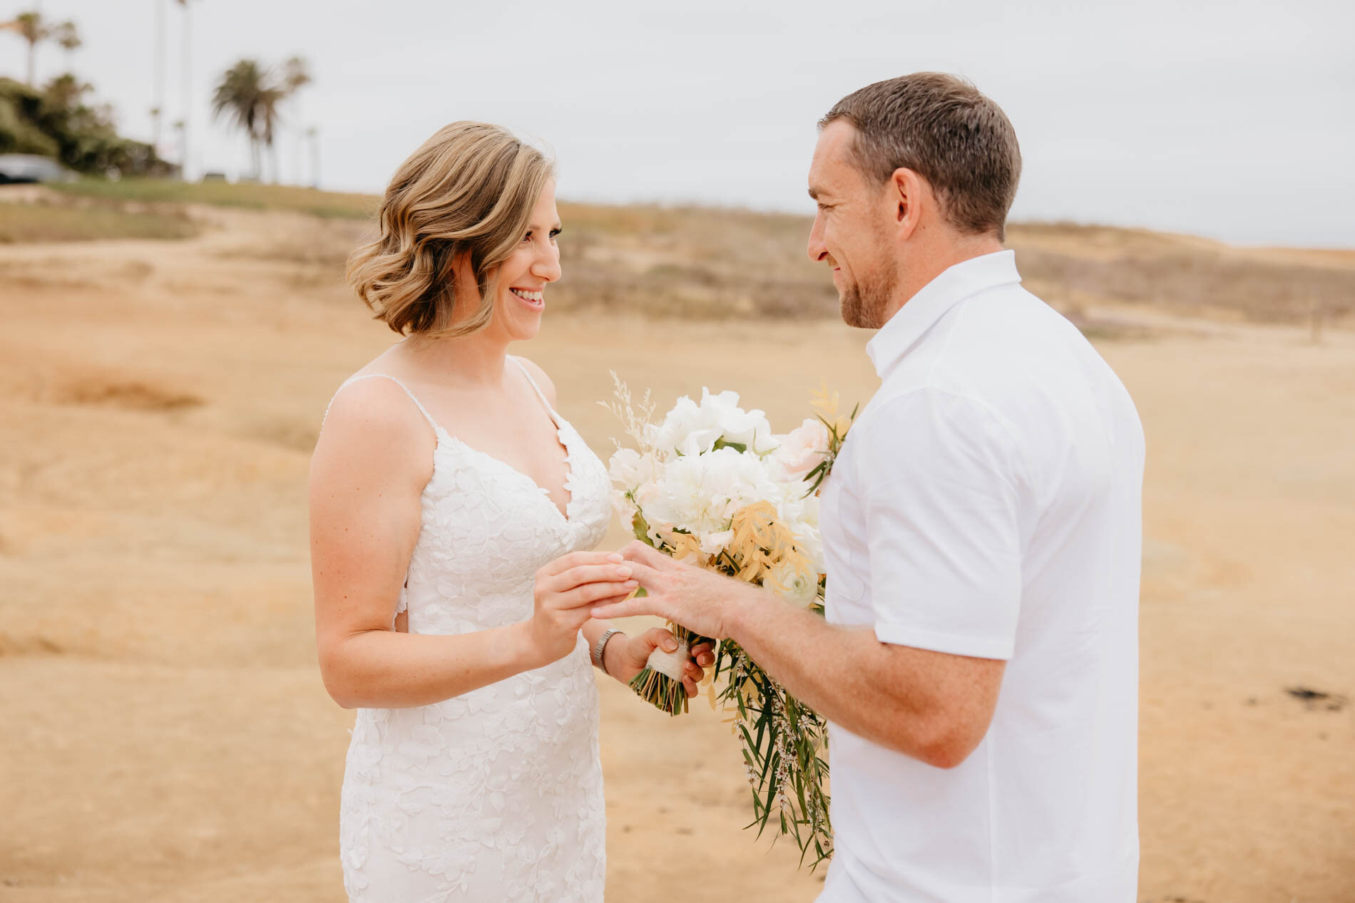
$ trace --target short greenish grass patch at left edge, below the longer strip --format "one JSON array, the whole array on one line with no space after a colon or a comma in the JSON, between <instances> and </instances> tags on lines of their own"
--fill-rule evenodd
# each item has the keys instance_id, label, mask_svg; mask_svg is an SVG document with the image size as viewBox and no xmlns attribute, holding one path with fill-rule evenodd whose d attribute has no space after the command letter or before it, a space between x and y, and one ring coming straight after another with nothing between
<instances>
[{"instance_id":1,"label":"short greenish grass patch at left edge, below the longer strip","mask_svg":"<svg viewBox=\"0 0 1355 903\"><path fill-rule=\"evenodd\" d=\"M192 222L179 211L126 213L115 207L0 203L0 242L188 238Z\"/></svg>"}]
</instances>

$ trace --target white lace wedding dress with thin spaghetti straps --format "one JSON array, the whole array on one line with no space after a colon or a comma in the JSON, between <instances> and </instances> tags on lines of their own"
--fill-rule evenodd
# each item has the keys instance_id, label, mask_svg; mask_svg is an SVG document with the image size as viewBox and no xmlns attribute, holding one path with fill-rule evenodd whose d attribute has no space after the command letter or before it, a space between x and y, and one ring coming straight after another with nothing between
<instances>
[{"instance_id":1,"label":"white lace wedding dress with thin spaghetti straps","mask_svg":"<svg viewBox=\"0 0 1355 903\"><path fill-rule=\"evenodd\" d=\"M355 379L369 376L381 375ZM565 517L530 477L447 433L400 387L438 447L397 612L408 609L413 634L531 617L537 569L602 542L606 467L533 383L568 452ZM358 711L339 816L355 903L598 903L604 831L598 688L583 636L553 665L436 705Z\"/></svg>"}]
</instances>

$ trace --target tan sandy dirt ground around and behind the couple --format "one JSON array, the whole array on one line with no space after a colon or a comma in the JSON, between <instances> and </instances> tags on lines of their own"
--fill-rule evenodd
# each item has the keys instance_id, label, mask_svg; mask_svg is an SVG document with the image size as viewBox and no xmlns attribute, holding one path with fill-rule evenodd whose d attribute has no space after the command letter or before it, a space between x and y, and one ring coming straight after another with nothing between
<instances>
[{"instance_id":1,"label":"tan sandy dirt ground around and behind the couple","mask_svg":"<svg viewBox=\"0 0 1355 903\"><path fill-rule=\"evenodd\" d=\"M305 479L331 393L392 336L289 252L344 226L198 215L184 242L0 248L0 903L344 899L351 713L314 663ZM869 398L867 336L832 313L547 299L515 351L606 454L608 368L665 403L738 390L779 429L821 379ZM1145 322L1098 341L1149 448L1140 899L1355 900L1355 336ZM715 713L602 690L608 899L814 898L822 871L743 830Z\"/></svg>"}]
</instances>

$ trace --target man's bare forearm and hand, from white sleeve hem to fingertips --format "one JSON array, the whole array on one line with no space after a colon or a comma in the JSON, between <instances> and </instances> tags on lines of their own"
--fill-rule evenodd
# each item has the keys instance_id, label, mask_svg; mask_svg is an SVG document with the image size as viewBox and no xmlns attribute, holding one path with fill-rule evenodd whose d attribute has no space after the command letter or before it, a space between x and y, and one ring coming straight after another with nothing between
<instances>
[{"instance_id":1,"label":"man's bare forearm and hand, from white sleeve hem to fingertips","mask_svg":"<svg viewBox=\"0 0 1355 903\"><path fill-rule=\"evenodd\" d=\"M882 643L644 543L623 551L648 596L595 616L652 613L728 636L824 718L928 765L954 768L984 739L1005 662Z\"/></svg>"}]
</instances>

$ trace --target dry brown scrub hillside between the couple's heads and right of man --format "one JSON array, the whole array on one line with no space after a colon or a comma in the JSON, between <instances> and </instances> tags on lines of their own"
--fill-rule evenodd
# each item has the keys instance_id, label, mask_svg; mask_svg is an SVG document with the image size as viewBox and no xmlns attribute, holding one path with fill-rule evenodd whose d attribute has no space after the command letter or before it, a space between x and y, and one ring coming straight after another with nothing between
<instances>
[{"instance_id":1,"label":"dry brown scrub hillside between the couple's heads and right of man","mask_svg":"<svg viewBox=\"0 0 1355 903\"><path fill-rule=\"evenodd\" d=\"M561 207L570 306L659 317L831 315L836 294L805 256L809 219L741 210ZM1355 252L1302 257L1187 236L1069 223L1018 223L1008 246L1027 286L1085 317L1127 303L1192 315L1329 321L1355 307Z\"/></svg>"}]
</instances>

